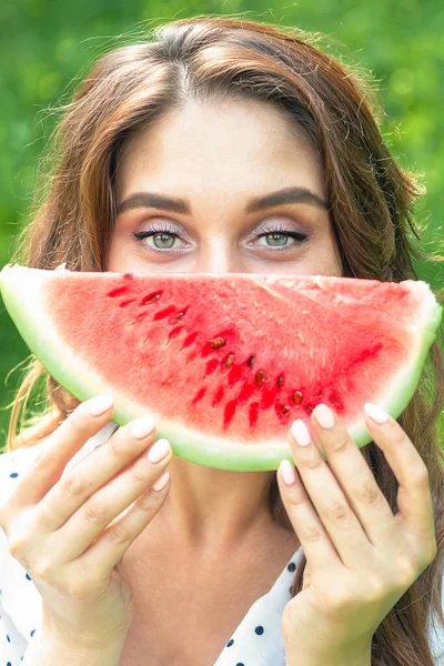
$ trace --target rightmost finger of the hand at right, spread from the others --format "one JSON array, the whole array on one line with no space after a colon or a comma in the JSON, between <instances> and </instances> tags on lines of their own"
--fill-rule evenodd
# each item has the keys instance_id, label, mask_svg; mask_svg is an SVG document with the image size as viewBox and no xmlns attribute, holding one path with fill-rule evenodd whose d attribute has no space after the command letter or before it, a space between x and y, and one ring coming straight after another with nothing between
<instances>
[{"instance_id":1,"label":"rightmost finger of the hand at right, spread from the others","mask_svg":"<svg viewBox=\"0 0 444 666\"><path fill-rule=\"evenodd\" d=\"M434 514L428 471L401 425L379 405L366 403L365 425L384 453L400 486L396 523L416 538L434 541ZM376 410L375 410L376 407ZM377 423L369 414L380 421Z\"/></svg>"}]
</instances>

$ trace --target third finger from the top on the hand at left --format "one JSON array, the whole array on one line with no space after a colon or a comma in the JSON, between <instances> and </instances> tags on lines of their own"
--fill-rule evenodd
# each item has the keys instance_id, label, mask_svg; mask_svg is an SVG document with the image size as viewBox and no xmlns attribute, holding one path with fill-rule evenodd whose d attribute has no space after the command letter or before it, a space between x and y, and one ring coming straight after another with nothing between
<instances>
[{"instance_id":1,"label":"third finger from the top on the hand at left","mask_svg":"<svg viewBox=\"0 0 444 666\"><path fill-rule=\"evenodd\" d=\"M113 521L122 517L122 512L128 511L138 497L159 481L172 457L167 440L159 440L157 445L162 443L165 444L164 457L151 463L144 452L131 467L94 493L57 533L51 535L51 538L57 539L58 548L61 548L61 562L70 562L82 555L105 528L111 528L110 524ZM155 507L161 496L162 493L154 491L150 509Z\"/></svg>"}]
</instances>

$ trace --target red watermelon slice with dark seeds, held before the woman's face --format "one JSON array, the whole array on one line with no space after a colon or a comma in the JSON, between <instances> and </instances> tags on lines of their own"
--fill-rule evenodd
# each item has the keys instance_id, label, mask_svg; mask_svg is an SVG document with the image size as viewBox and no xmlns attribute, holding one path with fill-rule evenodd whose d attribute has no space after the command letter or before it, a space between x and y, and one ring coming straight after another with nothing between
<instances>
[{"instance_id":1,"label":"red watermelon slice with dark seeds, held before the woman's face","mask_svg":"<svg viewBox=\"0 0 444 666\"><path fill-rule=\"evenodd\" d=\"M425 282L275 274L121 274L7 265L4 304L78 400L111 393L120 425L152 414L186 461L232 471L293 462L289 428L332 406L357 446L363 405L397 417L442 307Z\"/></svg>"}]
</instances>

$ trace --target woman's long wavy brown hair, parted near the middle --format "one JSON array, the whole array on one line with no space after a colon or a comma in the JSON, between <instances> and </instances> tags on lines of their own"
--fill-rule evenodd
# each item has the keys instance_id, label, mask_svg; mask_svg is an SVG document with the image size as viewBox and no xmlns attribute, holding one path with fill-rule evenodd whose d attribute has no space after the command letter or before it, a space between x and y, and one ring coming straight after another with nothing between
<instances>
[{"instance_id":1,"label":"woman's long wavy brown hair, parted near the middle","mask_svg":"<svg viewBox=\"0 0 444 666\"><path fill-rule=\"evenodd\" d=\"M370 77L321 51L321 38L295 28L203 16L169 22L98 58L72 100L59 107L63 115L52 135L49 168L39 174L13 261L39 269L67 262L72 271L105 270L115 174L128 142L190 100L250 99L274 104L322 157L343 275L418 279L412 259L433 260L410 238L420 239L413 210L424 190L415 174L396 163L380 133L376 120L383 111ZM442 293L436 296L444 302ZM437 554L379 626L372 666L433 666L426 620L433 614L444 624L444 484L437 435L444 404L442 333L398 417L428 470ZM78 404L33 356L26 370L12 405L9 451L40 442ZM24 430L27 403L41 377L46 408ZM397 482L384 455L373 442L362 454L396 513ZM269 506L276 523L292 529L275 477ZM305 565L302 556L294 595L302 589Z\"/></svg>"}]
</instances>

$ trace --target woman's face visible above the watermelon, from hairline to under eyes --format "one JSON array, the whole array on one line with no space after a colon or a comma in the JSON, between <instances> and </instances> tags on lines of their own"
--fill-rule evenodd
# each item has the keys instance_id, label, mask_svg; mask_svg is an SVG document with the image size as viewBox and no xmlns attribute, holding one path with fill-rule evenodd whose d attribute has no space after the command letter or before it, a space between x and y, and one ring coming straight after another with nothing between
<instances>
[{"instance_id":1,"label":"woman's face visible above the watermelon, from hairline to under eyes","mask_svg":"<svg viewBox=\"0 0 444 666\"><path fill-rule=\"evenodd\" d=\"M321 161L265 103L172 111L127 147L117 202L108 271L342 275Z\"/></svg>"}]
</instances>

